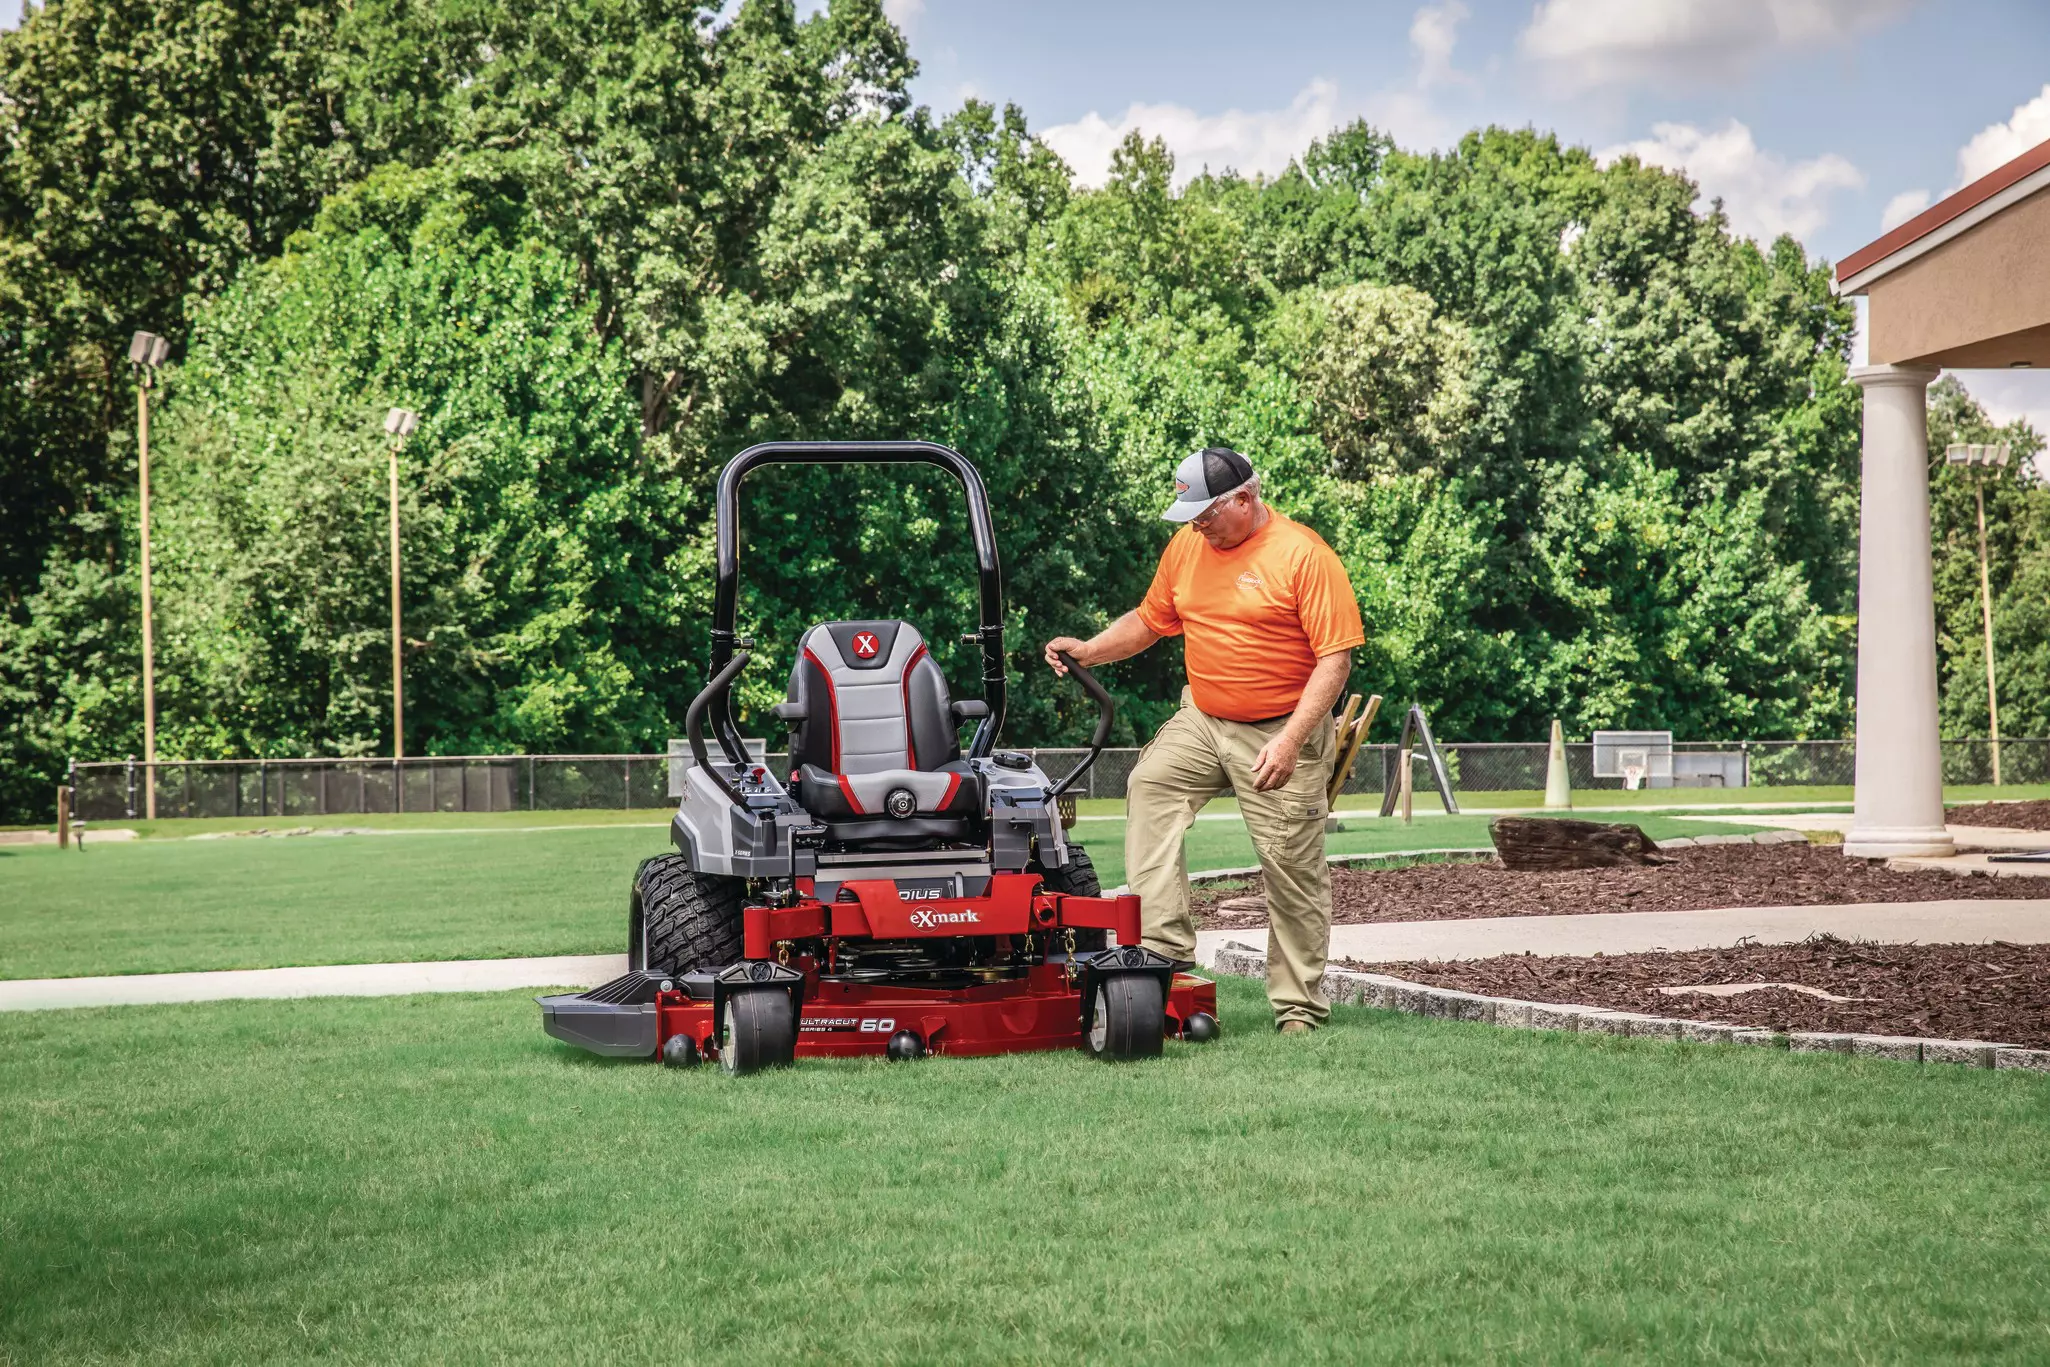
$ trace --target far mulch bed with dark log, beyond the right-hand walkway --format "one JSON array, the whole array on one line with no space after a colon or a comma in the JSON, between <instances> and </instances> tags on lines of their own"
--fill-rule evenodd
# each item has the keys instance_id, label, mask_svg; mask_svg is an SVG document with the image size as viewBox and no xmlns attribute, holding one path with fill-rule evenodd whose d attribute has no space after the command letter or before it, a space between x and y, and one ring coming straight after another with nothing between
<instances>
[{"instance_id":1,"label":"far mulch bed with dark log, beyond the right-hand walkway","mask_svg":"<svg viewBox=\"0 0 2050 1367\"><path fill-rule=\"evenodd\" d=\"M1722 906L1843 906L1945 898L2050 898L2050 879L1896 871L1845 859L1833 844L1699 844L1673 863L1513 873L1492 859L1398 869L1332 869L1332 920L1468 920L1581 912L1704 912ZM1230 892L1197 887L1197 924L1267 924L1261 879ZM1234 906L1236 904L1236 906Z\"/></svg>"}]
</instances>

